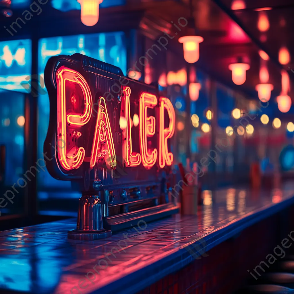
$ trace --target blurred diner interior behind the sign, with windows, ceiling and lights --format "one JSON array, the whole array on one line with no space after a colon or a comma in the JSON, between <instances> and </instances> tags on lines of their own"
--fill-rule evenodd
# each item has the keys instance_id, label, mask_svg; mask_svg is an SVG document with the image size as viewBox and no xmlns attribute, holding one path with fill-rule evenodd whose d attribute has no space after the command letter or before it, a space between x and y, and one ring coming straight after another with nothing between
<instances>
[{"instance_id":1,"label":"blurred diner interior behind the sign, with windows, ceiling and lights","mask_svg":"<svg viewBox=\"0 0 294 294\"><path fill-rule=\"evenodd\" d=\"M130 76L132 69L136 79L158 86L176 110L174 169L208 158L199 179L203 190L245 187L253 177L273 188L294 177L293 1L104 0L91 26L81 21L82 0L35 2L0 1L1 193L43 158L49 124L44 68L51 56L74 53ZM204 39L190 44L199 46L196 63L184 57L189 45L178 40L191 30ZM136 63L141 56L148 57L146 66ZM14 203L1 208L6 228L26 217L36 223L77 214L79 193L46 168L18 191Z\"/></svg>"}]
</instances>

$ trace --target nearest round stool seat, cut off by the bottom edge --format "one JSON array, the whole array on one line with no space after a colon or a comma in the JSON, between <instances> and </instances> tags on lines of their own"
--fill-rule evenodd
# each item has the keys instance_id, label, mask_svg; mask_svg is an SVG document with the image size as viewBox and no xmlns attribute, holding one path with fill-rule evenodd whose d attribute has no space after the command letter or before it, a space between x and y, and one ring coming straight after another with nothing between
<instances>
[{"instance_id":1,"label":"nearest round stool seat, cut off by the bottom edge","mask_svg":"<svg viewBox=\"0 0 294 294\"><path fill-rule=\"evenodd\" d=\"M236 294L293 294L294 289L279 285L247 286Z\"/></svg>"}]
</instances>

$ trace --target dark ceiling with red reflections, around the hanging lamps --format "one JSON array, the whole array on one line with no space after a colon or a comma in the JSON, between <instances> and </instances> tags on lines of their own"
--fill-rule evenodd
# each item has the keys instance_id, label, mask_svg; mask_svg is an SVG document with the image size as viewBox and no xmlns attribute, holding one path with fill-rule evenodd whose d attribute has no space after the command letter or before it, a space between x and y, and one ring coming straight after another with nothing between
<instances>
[{"instance_id":1,"label":"dark ceiling with red reflections, around the hanging lamps","mask_svg":"<svg viewBox=\"0 0 294 294\"><path fill-rule=\"evenodd\" d=\"M294 72L290 71L290 69L294 71L294 40L291 36L291 30L294 27L294 1L244 0L243 2L244 9L232 10L232 0L193 0L196 29L204 38L204 42L200 44L200 59L196 67L205 70L225 85L245 93L248 98L258 99L255 86L260 83L261 59L258 51L262 49L270 56L267 66L269 82L274 85L271 98L273 101L281 91L281 69L288 70L290 78L294 80ZM257 23L261 11L255 10L263 7L272 9L262 11L268 16L270 26L268 31L260 33ZM22 12L23 9L15 10L14 19L0 18L2 27L9 26L16 17L21 16ZM127 31L138 29L140 24L145 22L148 24L145 33L150 38L158 40L160 36L163 36L164 30L171 30L174 34L178 32L171 25L172 21L179 17L188 19L189 16L188 0L127 0L124 6L101 8L98 24L86 27L81 24L80 11L62 12L54 9L49 1L49 5L43 6L42 14L27 21L16 36L1 34L0 39L17 39L24 36L38 39L56 35L112 31L118 28ZM144 31L142 26L141 30ZM183 61L183 45L178 43L178 37L185 34L188 34L188 30L183 28L171 40L169 47L177 54L180 61ZM278 51L281 46L287 46L290 55L293 56L293 62L285 66L278 61ZM247 71L245 83L237 86L232 82L228 66L240 58L243 62L250 64L250 69ZM294 97L294 92L290 92L291 95Z\"/></svg>"}]
</instances>

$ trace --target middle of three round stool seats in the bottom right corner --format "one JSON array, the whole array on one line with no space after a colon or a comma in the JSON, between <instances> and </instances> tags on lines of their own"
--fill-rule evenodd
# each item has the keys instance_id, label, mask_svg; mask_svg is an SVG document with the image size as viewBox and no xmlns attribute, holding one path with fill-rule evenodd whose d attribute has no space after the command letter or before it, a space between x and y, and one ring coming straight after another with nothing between
<instances>
[{"instance_id":1,"label":"middle of three round stool seats in the bottom right corner","mask_svg":"<svg viewBox=\"0 0 294 294\"><path fill-rule=\"evenodd\" d=\"M292 273L264 273L255 283L275 284L294 289L294 274Z\"/></svg>"}]
</instances>

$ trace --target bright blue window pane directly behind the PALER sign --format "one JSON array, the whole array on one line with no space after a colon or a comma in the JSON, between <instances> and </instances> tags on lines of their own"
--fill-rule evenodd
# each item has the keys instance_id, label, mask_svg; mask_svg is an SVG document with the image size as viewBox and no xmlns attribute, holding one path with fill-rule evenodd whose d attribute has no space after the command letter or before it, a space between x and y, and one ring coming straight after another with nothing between
<instances>
[{"instance_id":1,"label":"bright blue window pane directly behind the PALER sign","mask_svg":"<svg viewBox=\"0 0 294 294\"><path fill-rule=\"evenodd\" d=\"M87 34L65 37L44 38L39 40L39 74L44 76L44 69L48 59L55 55L71 55L81 53L95 59L113 64L126 74L126 45L123 32ZM40 82L42 86L42 81ZM38 122L38 158L43 158L43 145L49 125L49 97L42 92L39 96L39 122ZM38 178L39 191L48 191L59 187L69 191L71 185L68 181L58 181L49 173L40 173ZM52 191L48 197L57 197ZM59 197L60 198L60 197Z\"/></svg>"}]
</instances>

